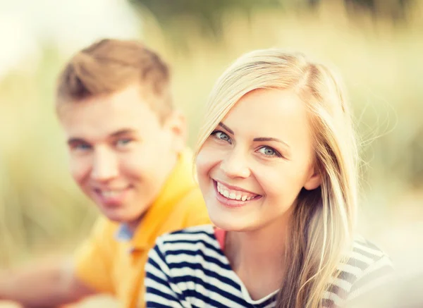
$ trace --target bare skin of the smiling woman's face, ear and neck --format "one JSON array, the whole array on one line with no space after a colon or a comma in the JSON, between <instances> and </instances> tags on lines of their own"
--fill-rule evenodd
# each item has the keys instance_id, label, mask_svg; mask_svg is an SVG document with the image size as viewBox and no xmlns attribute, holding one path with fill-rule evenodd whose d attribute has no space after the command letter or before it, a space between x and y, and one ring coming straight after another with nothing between
<instances>
[{"instance_id":1,"label":"bare skin of the smiling woman's face, ear and neck","mask_svg":"<svg viewBox=\"0 0 423 308\"><path fill-rule=\"evenodd\" d=\"M228 230L225 254L252 299L280 287L295 200L302 188L320 185L313 153L300 97L290 90L255 90L235 104L197 156L209 216Z\"/></svg>"}]
</instances>

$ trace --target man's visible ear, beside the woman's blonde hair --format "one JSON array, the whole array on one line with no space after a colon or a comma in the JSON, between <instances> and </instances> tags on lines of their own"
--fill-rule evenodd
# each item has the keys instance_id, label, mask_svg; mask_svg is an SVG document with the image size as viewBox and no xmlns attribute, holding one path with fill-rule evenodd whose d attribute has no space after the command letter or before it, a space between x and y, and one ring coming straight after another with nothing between
<instances>
[{"instance_id":1,"label":"man's visible ear, beside the woman's blonde hair","mask_svg":"<svg viewBox=\"0 0 423 308\"><path fill-rule=\"evenodd\" d=\"M176 153L183 152L188 138L187 121L183 113L179 110L173 111L166 118L164 125L171 133L172 148Z\"/></svg>"}]
</instances>

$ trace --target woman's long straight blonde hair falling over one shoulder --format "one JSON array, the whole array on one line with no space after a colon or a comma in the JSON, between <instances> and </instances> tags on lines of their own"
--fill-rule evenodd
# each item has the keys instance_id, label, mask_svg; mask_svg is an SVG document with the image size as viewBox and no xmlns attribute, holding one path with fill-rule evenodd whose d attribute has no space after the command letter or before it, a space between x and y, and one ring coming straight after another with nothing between
<instances>
[{"instance_id":1,"label":"woman's long straight blonde hair falling over one shoulder","mask_svg":"<svg viewBox=\"0 0 423 308\"><path fill-rule=\"evenodd\" d=\"M290 266L276 307L327 307L324 293L339 275L337 268L353 244L357 207L357 147L345 94L329 68L302 54L252 51L238 58L214 85L196 155L237 101L256 89L290 89L304 101L314 164L321 175L320 187L303 188L295 202L286 249Z\"/></svg>"}]
</instances>

